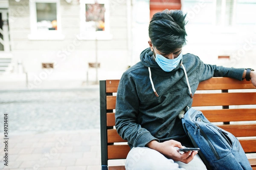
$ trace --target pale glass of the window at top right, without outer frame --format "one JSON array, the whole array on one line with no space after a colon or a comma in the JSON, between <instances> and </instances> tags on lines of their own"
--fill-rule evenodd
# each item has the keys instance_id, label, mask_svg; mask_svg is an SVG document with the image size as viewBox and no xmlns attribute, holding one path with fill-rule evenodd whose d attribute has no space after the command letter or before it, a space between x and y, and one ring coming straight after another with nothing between
<instances>
[{"instance_id":1,"label":"pale glass of the window at top right, without outer frame","mask_svg":"<svg viewBox=\"0 0 256 170\"><path fill-rule=\"evenodd\" d=\"M216 0L216 26L232 26L235 0Z\"/></svg>"}]
</instances>

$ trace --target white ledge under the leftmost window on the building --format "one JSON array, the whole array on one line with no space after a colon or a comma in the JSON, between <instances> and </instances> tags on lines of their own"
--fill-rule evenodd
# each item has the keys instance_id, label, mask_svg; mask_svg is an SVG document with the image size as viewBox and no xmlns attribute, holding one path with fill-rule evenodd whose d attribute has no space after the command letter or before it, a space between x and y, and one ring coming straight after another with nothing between
<instances>
[{"instance_id":1,"label":"white ledge under the leftmost window on the building","mask_svg":"<svg viewBox=\"0 0 256 170\"><path fill-rule=\"evenodd\" d=\"M63 34L29 34L29 40L64 40L65 36Z\"/></svg>"}]
</instances>

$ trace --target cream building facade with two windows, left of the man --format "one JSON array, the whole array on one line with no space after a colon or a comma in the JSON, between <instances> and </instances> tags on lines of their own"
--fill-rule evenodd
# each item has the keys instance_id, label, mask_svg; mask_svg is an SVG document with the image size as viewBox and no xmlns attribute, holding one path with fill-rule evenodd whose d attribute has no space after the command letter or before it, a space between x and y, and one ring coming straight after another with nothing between
<instances>
[{"instance_id":1,"label":"cream building facade with two windows, left of the man","mask_svg":"<svg viewBox=\"0 0 256 170\"><path fill-rule=\"evenodd\" d=\"M0 55L12 62L2 77L26 73L32 84L41 80L94 81L101 78L96 72L114 78L127 69L131 58L128 2L98 0L99 8L93 7L94 3L9 0L6 14L10 45L5 45ZM92 18L93 12L99 18Z\"/></svg>"}]
</instances>

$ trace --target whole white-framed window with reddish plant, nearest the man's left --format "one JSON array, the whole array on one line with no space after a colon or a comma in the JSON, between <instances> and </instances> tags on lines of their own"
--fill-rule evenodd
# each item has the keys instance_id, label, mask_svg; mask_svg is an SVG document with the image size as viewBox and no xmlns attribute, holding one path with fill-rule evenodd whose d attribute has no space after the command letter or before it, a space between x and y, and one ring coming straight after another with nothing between
<instances>
[{"instance_id":1,"label":"whole white-framed window with reddish plant, nearest the man's left","mask_svg":"<svg viewBox=\"0 0 256 170\"><path fill-rule=\"evenodd\" d=\"M108 0L80 0L80 36L85 40L111 39Z\"/></svg>"}]
</instances>

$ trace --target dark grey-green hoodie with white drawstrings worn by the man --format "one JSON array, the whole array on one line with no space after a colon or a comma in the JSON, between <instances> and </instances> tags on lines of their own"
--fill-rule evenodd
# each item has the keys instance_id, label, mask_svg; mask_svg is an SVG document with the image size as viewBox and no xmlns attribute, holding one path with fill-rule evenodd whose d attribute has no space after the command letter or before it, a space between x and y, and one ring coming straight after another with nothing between
<instances>
[{"instance_id":1,"label":"dark grey-green hoodie with white drawstrings worn by the man","mask_svg":"<svg viewBox=\"0 0 256 170\"><path fill-rule=\"evenodd\" d=\"M242 80L244 72L244 68L204 64L193 54L184 54L182 64L165 72L154 61L150 48L140 54L140 60L124 72L116 96L116 130L130 147L170 139L189 146L178 118L183 108L192 105L189 91L194 95L199 82L211 77Z\"/></svg>"}]
</instances>

